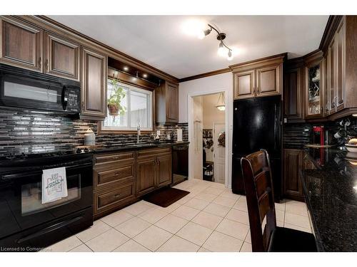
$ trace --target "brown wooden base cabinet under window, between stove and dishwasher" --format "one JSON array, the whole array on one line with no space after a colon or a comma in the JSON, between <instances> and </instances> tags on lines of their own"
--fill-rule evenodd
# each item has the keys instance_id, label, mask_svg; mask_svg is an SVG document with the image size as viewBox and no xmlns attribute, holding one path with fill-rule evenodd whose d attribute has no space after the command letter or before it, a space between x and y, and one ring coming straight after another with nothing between
<instances>
[{"instance_id":1,"label":"brown wooden base cabinet under window, between stove and dishwasher","mask_svg":"<svg viewBox=\"0 0 357 267\"><path fill-rule=\"evenodd\" d=\"M94 156L94 219L172 182L171 147Z\"/></svg>"}]
</instances>

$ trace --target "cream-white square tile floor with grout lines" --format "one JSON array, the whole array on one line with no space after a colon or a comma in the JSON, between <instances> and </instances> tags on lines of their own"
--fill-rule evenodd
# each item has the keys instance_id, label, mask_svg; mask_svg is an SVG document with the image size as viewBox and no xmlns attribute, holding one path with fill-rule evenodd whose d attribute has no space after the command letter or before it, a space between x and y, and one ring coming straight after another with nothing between
<instances>
[{"instance_id":1,"label":"cream-white square tile floor with grout lines","mask_svg":"<svg viewBox=\"0 0 357 267\"><path fill-rule=\"evenodd\" d=\"M45 251L251 251L246 197L223 184L197 179L178 184L190 192L167 208L139 201ZM311 232L306 204L276 204L278 226Z\"/></svg>"}]
</instances>

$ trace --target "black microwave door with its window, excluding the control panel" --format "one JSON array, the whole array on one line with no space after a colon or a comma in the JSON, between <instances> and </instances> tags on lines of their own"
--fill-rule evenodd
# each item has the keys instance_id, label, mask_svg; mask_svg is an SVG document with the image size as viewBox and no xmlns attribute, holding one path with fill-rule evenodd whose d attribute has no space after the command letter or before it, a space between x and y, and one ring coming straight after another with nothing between
<instances>
[{"instance_id":1,"label":"black microwave door with its window, excluding the control panel","mask_svg":"<svg viewBox=\"0 0 357 267\"><path fill-rule=\"evenodd\" d=\"M2 75L0 102L6 107L36 110L66 110L67 89L61 83L24 76Z\"/></svg>"}]
</instances>

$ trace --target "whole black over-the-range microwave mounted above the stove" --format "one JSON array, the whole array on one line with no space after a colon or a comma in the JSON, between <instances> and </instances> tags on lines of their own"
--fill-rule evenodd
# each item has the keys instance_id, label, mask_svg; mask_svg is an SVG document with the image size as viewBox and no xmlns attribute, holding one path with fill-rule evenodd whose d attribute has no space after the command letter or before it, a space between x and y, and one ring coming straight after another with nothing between
<instances>
[{"instance_id":1,"label":"whole black over-the-range microwave mounted above the stove","mask_svg":"<svg viewBox=\"0 0 357 267\"><path fill-rule=\"evenodd\" d=\"M0 64L0 105L78 115L81 83Z\"/></svg>"}]
</instances>

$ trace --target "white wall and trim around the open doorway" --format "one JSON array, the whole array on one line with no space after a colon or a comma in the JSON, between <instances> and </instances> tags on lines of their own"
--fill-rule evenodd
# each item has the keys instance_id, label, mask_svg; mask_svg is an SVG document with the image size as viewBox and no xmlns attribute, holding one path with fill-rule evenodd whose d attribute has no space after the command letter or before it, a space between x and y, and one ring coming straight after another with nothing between
<instances>
[{"instance_id":1,"label":"white wall and trim around the open doorway","mask_svg":"<svg viewBox=\"0 0 357 267\"><path fill-rule=\"evenodd\" d=\"M228 116L226 117L226 125L228 125L227 133L227 154L226 159L228 163L227 170L227 186L231 187L231 172L232 172L232 132L233 132L233 75L232 73L222 73L218 75L209 76L197 80L188 80L180 83L178 89L178 120L179 122L188 122L188 97L191 95L204 95L209 93L216 93L219 91L226 92L226 110ZM188 130L190 134L190 129ZM191 146L190 146L191 147Z\"/></svg>"}]
</instances>

